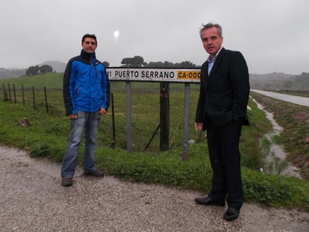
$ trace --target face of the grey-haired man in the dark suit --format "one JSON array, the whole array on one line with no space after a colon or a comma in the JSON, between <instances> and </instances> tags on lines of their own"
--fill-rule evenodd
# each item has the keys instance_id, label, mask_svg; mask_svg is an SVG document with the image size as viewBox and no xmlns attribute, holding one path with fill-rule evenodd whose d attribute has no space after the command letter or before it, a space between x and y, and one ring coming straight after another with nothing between
<instances>
[{"instance_id":1,"label":"face of the grey-haired man in the dark suit","mask_svg":"<svg viewBox=\"0 0 309 232\"><path fill-rule=\"evenodd\" d=\"M223 37L219 36L216 27L207 28L202 32L202 42L206 52L211 58L214 58L222 46Z\"/></svg>"}]
</instances>

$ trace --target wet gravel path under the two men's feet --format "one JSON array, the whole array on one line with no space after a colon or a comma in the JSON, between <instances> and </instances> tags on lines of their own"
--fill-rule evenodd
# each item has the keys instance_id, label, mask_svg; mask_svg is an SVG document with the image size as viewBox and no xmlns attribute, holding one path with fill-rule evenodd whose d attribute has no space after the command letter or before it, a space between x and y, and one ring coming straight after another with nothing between
<instances>
[{"instance_id":1,"label":"wet gravel path under the two men's feet","mask_svg":"<svg viewBox=\"0 0 309 232\"><path fill-rule=\"evenodd\" d=\"M244 204L240 218L226 207L197 205L204 193L111 176L60 186L60 164L0 147L0 231L309 231L309 214Z\"/></svg>"}]
</instances>

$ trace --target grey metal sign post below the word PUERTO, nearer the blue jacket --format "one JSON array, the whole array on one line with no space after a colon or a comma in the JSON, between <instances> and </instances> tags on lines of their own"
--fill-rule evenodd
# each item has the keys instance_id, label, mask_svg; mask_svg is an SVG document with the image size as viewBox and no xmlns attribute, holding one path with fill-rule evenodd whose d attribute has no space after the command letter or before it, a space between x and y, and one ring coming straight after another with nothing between
<instances>
[{"instance_id":1,"label":"grey metal sign post below the word PUERTO, nearer the blue jacket","mask_svg":"<svg viewBox=\"0 0 309 232\"><path fill-rule=\"evenodd\" d=\"M126 81L126 152L132 153L131 83Z\"/></svg>"}]
</instances>

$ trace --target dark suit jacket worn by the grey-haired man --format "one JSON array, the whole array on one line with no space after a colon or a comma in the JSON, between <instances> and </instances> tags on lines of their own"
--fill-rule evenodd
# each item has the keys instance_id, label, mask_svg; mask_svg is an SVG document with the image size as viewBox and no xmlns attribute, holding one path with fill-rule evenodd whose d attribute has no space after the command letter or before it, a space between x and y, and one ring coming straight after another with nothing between
<instances>
[{"instance_id":1,"label":"dark suit jacket worn by the grey-haired man","mask_svg":"<svg viewBox=\"0 0 309 232\"><path fill-rule=\"evenodd\" d=\"M196 108L196 123L207 129L207 116L218 125L227 125L234 120L249 125L247 104L250 85L249 72L240 52L222 50L208 76L208 62L201 68L201 87Z\"/></svg>"}]
</instances>

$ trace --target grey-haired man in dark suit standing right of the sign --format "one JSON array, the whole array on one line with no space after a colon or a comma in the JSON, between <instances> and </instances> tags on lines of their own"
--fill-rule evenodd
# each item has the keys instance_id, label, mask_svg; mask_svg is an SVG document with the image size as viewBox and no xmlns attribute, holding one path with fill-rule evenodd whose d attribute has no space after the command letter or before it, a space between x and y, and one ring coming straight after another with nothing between
<instances>
[{"instance_id":1,"label":"grey-haired man in dark suit standing right of the sign","mask_svg":"<svg viewBox=\"0 0 309 232\"><path fill-rule=\"evenodd\" d=\"M222 48L222 28L208 23L200 31L209 57L201 67L201 87L195 129L207 131L209 158L213 170L212 187L198 204L225 206L223 218L238 218L244 202L240 173L239 139L242 125L249 125L249 72L240 52Z\"/></svg>"}]
</instances>

